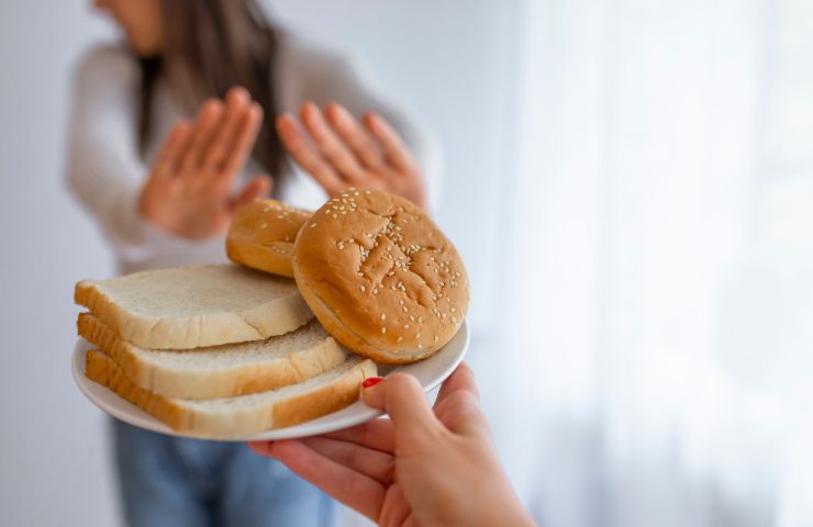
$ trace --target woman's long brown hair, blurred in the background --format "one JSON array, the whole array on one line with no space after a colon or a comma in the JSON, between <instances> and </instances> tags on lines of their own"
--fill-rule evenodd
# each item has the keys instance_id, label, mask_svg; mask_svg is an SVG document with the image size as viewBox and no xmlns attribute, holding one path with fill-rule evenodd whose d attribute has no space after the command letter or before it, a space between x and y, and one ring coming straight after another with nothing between
<instances>
[{"instance_id":1,"label":"woman's long brown hair, blurred in the background","mask_svg":"<svg viewBox=\"0 0 813 527\"><path fill-rule=\"evenodd\" d=\"M162 3L164 52L159 57L140 59L142 155L152 132L153 93L160 75L166 75L174 93L190 104L189 110L208 97L223 98L230 88L242 86L265 112L254 158L277 179L285 169L285 152L274 126L277 30L256 0L164 0Z\"/></svg>"}]
</instances>

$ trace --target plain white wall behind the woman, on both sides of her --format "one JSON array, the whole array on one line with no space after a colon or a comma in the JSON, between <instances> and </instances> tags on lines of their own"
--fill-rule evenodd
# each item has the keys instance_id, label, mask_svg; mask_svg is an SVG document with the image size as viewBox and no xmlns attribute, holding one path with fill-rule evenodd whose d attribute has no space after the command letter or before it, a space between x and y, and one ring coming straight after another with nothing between
<instances>
[{"instance_id":1,"label":"plain white wall behind the woman, on both sides of her","mask_svg":"<svg viewBox=\"0 0 813 527\"><path fill-rule=\"evenodd\" d=\"M438 221L470 268L476 329L492 333L502 209L478 205L501 202L509 177L515 2L272 3L291 26L365 54L388 92L436 130L448 178ZM112 34L88 4L0 2L2 525L116 518L105 421L69 372L73 285L112 272L104 244L62 182L71 64Z\"/></svg>"}]
</instances>

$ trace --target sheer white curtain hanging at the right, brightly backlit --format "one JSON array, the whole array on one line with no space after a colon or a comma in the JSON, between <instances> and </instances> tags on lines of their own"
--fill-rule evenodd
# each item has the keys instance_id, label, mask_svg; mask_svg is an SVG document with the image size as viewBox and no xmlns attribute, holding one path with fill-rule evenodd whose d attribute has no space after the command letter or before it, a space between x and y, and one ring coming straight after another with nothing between
<instances>
[{"instance_id":1,"label":"sheer white curtain hanging at the right, brightly backlit","mask_svg":"<svg viewBox=\"0 0 813 527\"><path fill-rule=\"evenodd\" d=\"M557 527L813 525L813 3L522 20L494 427L522 498Z\"/></svg>"}]
</instances>

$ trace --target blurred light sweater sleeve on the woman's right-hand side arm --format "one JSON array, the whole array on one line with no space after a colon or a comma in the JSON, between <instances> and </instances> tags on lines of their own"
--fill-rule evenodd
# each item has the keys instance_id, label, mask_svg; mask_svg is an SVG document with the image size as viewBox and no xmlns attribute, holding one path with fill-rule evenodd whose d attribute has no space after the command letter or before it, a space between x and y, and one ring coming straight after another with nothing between
<instances>
[{"instance_id":1,"label":"blurred light sweater sleeve on the woman's right-hand side arm","mask_svg":"<svg viewBox=\"0 0 813 527\"><path fill-rule=\"evenodd\" d=\"M434 135L398 104L380 96L367 65L350 55L339 54L286 35L280 61L282 110L297 113L305 101L319 105L338 102L360 117L372 111L386 119L401 135L421 166L428 189L428 202L436 210L441 193L443 160Z\"/></svg>"}]
</instances>

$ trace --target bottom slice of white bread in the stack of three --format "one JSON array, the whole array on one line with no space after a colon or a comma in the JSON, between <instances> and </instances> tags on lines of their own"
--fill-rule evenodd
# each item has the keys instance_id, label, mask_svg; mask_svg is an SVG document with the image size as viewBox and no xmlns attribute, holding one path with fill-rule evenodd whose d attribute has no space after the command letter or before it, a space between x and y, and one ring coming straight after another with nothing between
<instances>
[{"instance_id":1,"label":"bottom slice of white bread in the stack of three","mask_svg":"<svg viewBox=\"0 0 813 527\"><path fill-rule=\"evenodd\" d=\"M208 401L151 393L134 384L101 350L88 351L85 374L179 433L227 439L304 423L348 406L358 399L361 381L376 374L376 363L348 357L336 368L299 384Z\"/></svg>"}]
</instances>

